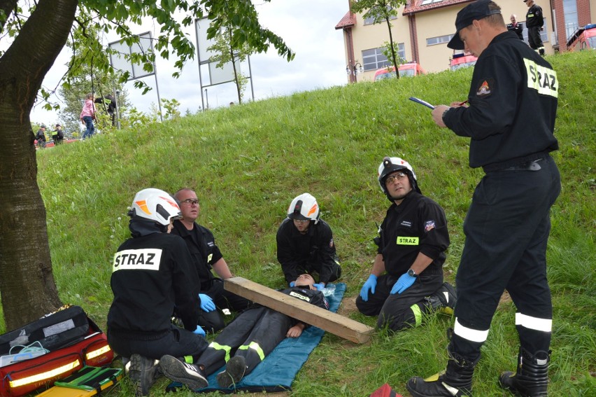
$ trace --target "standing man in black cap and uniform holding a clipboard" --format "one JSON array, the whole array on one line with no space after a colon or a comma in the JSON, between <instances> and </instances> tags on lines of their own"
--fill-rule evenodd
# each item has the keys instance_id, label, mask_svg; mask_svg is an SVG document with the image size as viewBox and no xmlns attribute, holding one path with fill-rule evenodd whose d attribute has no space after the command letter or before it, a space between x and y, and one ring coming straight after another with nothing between
<instances>
[{"instance_id":1,"label":"standing man in black cap and uniform holding a clipboard","mask_svg":"<svg viewBox=\"0 0 596 397\"><path fill-rule=\"evenodd\" d=\"M559 81L540 55L507 32L501 9L479 0L457 13L449 48L478 57L469 106L439 105L432 118L468 137L470 167L483 167L464 221L457 269L455 328L447 370L435 381L413 377L413 396L469 396L480 348L506 289L516 305L518 369L499 377L521 396L546 396L553 307L546 279L549 211L560 175L549 152Z\"/></svg>"}]
</instances>

